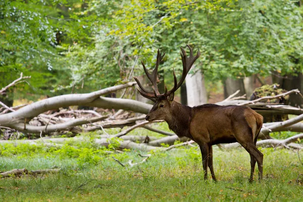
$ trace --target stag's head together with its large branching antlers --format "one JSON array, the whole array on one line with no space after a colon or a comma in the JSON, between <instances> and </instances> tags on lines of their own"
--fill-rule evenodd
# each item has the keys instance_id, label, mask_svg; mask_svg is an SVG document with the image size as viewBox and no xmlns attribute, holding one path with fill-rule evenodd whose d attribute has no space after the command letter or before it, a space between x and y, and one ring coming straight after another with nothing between
<instances>
[{"instance_id":1,"label":"stag's head together with its large branching antlers","mask_svg":"<svg viewBox=\"0 0 303 202\"><path fill-rule=\"evenodd\" d=\"M143 66L144 72L148 79L150 80L151 84L153 84L153 90L149 91L146 90L141 83L139 82L137 77L134 77L134 79L137 82L137 89L139 93L143 96L146 97L150 100L153 100L155 103L153 108L149 111L149 113L146 115L145 119L147 121L155 121L155 120L167 120L169 117L171 117L172 114L172 103L174 102L174 92L182 85L183 81L185 80L185 77L187 73L189 72L190 68L192 67L193 63L199 58L200 52L198 50L198 53L193 56L192 54L192 48L187 45L189 48L189 57L186 56L186 52L182 47L181 48L181 59L182 59L182 64L183 64L183 71L182 71L182 76L180 81L177 81L177 77L175 74L175 70L173 70L173 76L174 76L174 87L171 90L167 90L167 87L165 86L165 92L160 93L158 90L157 86L157 76L158 76L158 67L159 64L161 63L163 57L165 54L162 55L158 49L158 55L157 55L157 62L155 69L153 72L150 74L143 61L141 61L141 64Z\"/></svg>"}]
</instances>

